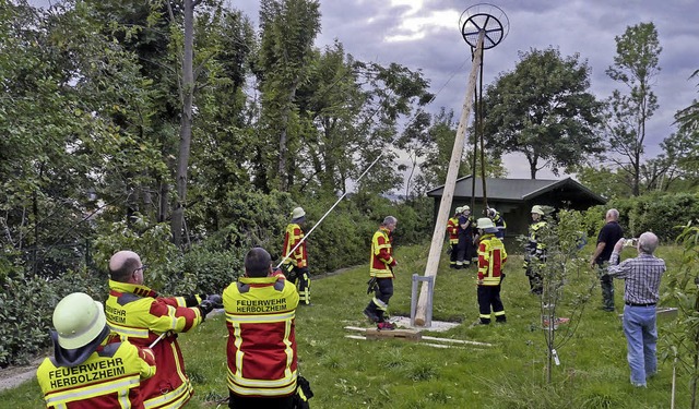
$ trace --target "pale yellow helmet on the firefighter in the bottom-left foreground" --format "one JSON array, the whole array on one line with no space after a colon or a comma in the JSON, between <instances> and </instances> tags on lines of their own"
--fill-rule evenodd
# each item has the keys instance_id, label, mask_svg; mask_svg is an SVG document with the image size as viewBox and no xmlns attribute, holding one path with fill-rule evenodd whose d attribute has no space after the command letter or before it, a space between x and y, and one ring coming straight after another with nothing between
<instances>
[{"instance_id":1,"label":"pale yellow helmet on the firefighter in the bottom-left foreground","mask_svg":"<svg viewBox=\"0 0 699 409\"><path fill-rule=\"evenodd\" d=\"M54 310L54 326L58 345L64 349L78 349L90 344L107 325L102 302L84 292L66 296Z\"/></svg>"}]
</instances>

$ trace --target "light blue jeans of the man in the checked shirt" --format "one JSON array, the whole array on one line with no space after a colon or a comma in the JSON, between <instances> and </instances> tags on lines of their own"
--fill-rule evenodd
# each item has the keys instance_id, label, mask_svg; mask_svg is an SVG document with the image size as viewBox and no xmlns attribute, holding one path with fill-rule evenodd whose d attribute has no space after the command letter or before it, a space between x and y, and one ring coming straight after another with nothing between
<instances>
[{"instance_id":1,"label":"light blue jeans of the man in the checked shirt","mask_svg":"<svg viewBox=\"0 0 699 409\"><path fill-rule=\"evenodd\" d=\"M627 360L631 369L631 384L645 386L645 378L657 371L655 305L625 305L624 334L628 345Z\"/></svg>"}]
</instances>

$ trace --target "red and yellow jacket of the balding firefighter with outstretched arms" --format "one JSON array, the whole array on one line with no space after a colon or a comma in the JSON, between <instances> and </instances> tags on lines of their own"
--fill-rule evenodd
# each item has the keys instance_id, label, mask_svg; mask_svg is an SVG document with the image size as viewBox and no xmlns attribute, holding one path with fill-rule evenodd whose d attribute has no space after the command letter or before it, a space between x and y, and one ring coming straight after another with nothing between
<instances>
[{"instance_id":1,"label":"red and yellow jacket of the balding firefighter with outstretched arms","mask_svg":"<svg viewBox=\"0 0 699 409\"><path fill-rule=\"evenodd\" d=\"M203 321L196 306L199 302L198 297L158 297L145 286L109 280L105 313L111 329L138 347L147 347L163 336L152 348L157 373L141 388L145 408L180 408L193 395L177 334Z\"/></svg>"}]
</instances>

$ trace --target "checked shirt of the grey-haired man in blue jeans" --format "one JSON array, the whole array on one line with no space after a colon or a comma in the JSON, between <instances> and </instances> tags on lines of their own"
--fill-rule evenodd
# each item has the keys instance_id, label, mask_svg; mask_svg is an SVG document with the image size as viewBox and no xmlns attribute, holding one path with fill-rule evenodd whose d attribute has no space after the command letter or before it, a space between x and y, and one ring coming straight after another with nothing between
<instances>
[{"instance_id":1,"label":"checked shirt of the grey-haired man in blue jeans","mask_svg":"<svg viewBox=\"0 0 699 409\"><path fill-rule=\"evenodd\" d=\"M633 304L654 304L660 299L660 278L665 273L665 261L652 254L639 253L620 264L619 253L613 252L608 274L625 280L624 301Z\"/></svg>"}]
</instances>

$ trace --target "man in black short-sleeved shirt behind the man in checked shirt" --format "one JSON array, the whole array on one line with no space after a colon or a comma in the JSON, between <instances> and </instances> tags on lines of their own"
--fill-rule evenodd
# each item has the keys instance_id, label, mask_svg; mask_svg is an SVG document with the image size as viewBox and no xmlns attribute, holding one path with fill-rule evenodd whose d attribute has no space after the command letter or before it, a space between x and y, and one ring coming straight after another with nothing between
<instances>
[{"instance_id":1,"label":"man in black short-sleeved shirt behind the man in checked shirt","mask_svg":"<svg viewBox=\"0 0 699 409\"><path fill-rule=\"evenodd\" d=\"M624 237L624 230L619 222L619 212L616 208L607 210L605 216L606 224L600 230L597 236L597 246L594 249L590 267L597 268L600 275L600 285L602 287L602 309L604 311L614 312L614 280L607 274L609 257L614 250L614 244Z\"/></svg>"}]
</instances>

